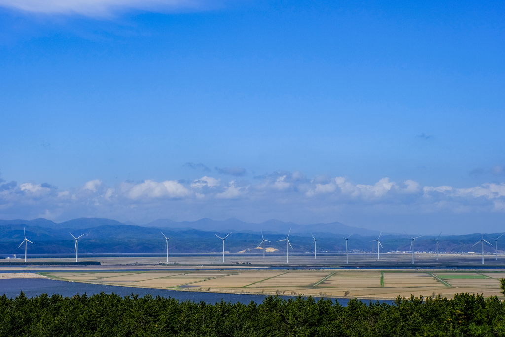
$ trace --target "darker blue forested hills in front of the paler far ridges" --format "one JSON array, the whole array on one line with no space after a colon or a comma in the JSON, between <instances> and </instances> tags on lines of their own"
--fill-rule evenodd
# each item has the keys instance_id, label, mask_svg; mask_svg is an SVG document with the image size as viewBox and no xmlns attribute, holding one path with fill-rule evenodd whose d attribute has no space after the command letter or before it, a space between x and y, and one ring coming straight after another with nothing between
<instances>
[{"instance_id":1,"label":"darker blue forested hills in front of the paler far ridges","mask_svg":"<svg viewBox=\"0 0 505 337\"><path fill-rule=\"evenodd\" d=\"M34 221L34 220L32 220ZM114 220L112 220L114 221ZM23 240L23 229L26 230L26 237L33 242L28 244L28 252L31 254L62 253L70 254L74 252L75 241L69 232L75 236L85 234L79 239L80 253L161 253L165 251L165 238L161 231L169 237L169 252L171 253L208 253L220 252L222 243L214 234L223 236L229 233L225 231L203 231L195 229L176 230L174 228L142 227L136 225L126 225L120 222L112 222L108 225L89 227L85 224L79 228L78 223L72 223L69 228L47 228L44 222L28 222L0 225L0 254L21 254L24 247L19 248ZM32 225L33 224L33 225ZM316 229L316 228L315 228ZM284 239L287 233L265 231L265 238L272 241L266 245L267 248L277 249L279 253L285 252L285 243L278 243L276 240ZM345 240L338 234L317 232L313 234L318 239L318 252L344 252ZM348 234L348 233L342 233ZM501 233L485 235L484 238L492 242L493 237ZM377 251L377 244L370 242L377 236L353 234L349 238L348 248L350 251ZM423 236L416 240L416 251L434 251L436 246L433 239L435 236ZM481 234L441 236L439 239L440 252L479 252L480 245L472 247ZM314 241L312 236L301 233L292 233L289 236L293 246L293 253L313 252ZM410 239L407 235L389 234L380 237L382 252L409 251ZM260 253L257 249L261 242L260 232L237 232L233 231L226 239L226 251L237 253L241 251ZM501 239L498 240L498 249L501 246ZM503 242L505 247L505 242ZM488 244L484 246L486 252L494 252L494 247Z\"/></svg>"}]
</instances>

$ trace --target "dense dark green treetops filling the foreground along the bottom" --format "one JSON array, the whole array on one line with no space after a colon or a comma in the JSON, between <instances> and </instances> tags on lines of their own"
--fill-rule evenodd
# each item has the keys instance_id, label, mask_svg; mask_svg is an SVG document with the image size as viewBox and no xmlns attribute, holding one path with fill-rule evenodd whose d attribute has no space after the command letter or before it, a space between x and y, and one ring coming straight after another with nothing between
<instances>
[{"instance_id":1,"label":"dense dark green treetops filling the foreground along the bottom","mask_svg":"<svg viewBox=\"0 0 505 337\"><path fill-rule=\"evenodd\" d=\"M0 336L503 336L505 302L458 294L352 299L267 297L262 304L122 298L115 294L0 297Z\"/></svg>"}]
</instances>

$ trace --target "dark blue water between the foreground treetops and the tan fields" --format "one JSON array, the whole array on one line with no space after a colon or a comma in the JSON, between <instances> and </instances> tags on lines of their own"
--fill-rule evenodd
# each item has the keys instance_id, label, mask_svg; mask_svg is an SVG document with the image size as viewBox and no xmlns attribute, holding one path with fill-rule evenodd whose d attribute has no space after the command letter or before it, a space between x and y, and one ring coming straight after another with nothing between
<instances>
[{"instance_id":1,"label":"dark blue water between the foreground treetops and the tan fields","mask_svg":"<svg viewBox=\"0 0 505 337\"><path fill-rule=\"evenodd\" d=\"M179 302L192 301L201 302L204 301L209 304L214 304L221 302L223 299L225 302L231 303L242 303L249 304L251 301L256 303L262 303L267 297L266 295L249 295L249 294L221 294L221 293L205 293L205 292L186 292L186 291L176 291L167 289L156 289L156 288L135 288L127 286L117 286L117 285L104 285L104 284L90 284L90 283L79 283L79 282L68 282L68 281L57 281L46 278L12 278L12 279L0 279L0 295L6 294L9 298L15 298L23 291L27 297L35 297L37 295L46 293L48 295L60 294L66 297L74 296L76 294L86 293L88 296L93 294L100 294L104 292L106 294L115 293L121 296L127 296L131 294L138 294L139 296L144 296L151 294L153 296L160 295L162 297L172 297L179 300ZM283 299L295 298L294 296L280 296ZM315 298L316 301L319 298ZM343 306L347 305L349 299L332 299L333 301L338 301ZM367 301L364 301L367 302ZM374 301L375 302L375 301ZM381 303L392 304L393 301L379 301Z\"/></svg>"}]
</instances>

